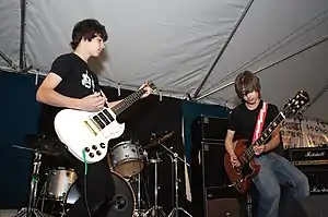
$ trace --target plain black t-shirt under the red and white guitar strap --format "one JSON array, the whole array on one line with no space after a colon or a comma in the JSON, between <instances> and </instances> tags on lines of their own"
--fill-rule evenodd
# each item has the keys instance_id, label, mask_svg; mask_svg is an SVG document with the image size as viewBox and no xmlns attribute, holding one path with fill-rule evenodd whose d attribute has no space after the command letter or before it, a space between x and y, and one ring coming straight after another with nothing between
<instances>
[{"instance_id":1,"label":"plain black t-shirt under the red and white guitar strap","mask_svg":"<svg viewBox=\"0 0 328 217\"><path fill-rule=\"evenodd\" d=\"M235 132L234 140L248 140L249 143L251 142L255 125L257 122L257 117L260 109L262 108L262 105L263 101L260 100L258 107L254 110L249 110L245 106L245 104L241 104L239 106L233 109L230 116L230 122L227 129ZM272 104L268 104L268 110L267 110L265 124L262 126L262 131L265 131L265 129L270 124L270 122L273 121L273 119L278 114L279 114L278 107ZM276 150L278 150L280 154L281 147L277 148Z\"/></svg>"}]
</instances>

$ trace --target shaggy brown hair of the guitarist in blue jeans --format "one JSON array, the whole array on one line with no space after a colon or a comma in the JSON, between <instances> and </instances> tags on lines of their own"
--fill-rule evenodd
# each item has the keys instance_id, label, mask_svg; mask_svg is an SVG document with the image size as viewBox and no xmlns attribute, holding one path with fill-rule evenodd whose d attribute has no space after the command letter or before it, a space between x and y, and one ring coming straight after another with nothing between
<instances>
[{"instance_id":1,"label":"shaggy brown hair of the guitarist in blue jeans","mask_svg":"<svg viewBox=\"0 0 328 217\"><path fill-rule=\"evenodd\" d=\"M235 91L239 99L244 100L244 95L251 92L261 92L259 79L249 71L245 71L237 75L235 80Z\"/></svg>"}]
</instances>

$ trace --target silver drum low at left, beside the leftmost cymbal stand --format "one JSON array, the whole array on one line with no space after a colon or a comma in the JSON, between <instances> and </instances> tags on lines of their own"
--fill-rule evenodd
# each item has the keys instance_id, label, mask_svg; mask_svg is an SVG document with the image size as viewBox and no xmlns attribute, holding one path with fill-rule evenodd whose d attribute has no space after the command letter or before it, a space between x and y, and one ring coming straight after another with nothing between
<instances>
[{"instance_id":1,"label":"silver drum low at left, beside the leftmost cymbal stand","mask_svg":"<svg viewBox=\"0 0 328 217\"><path fill-rule=\"evenodd\" d=\"M73 169L57 168L49 170L47 181L47 197L63 201L70 186L78 179Z\"/></svg>"}]
</instances>

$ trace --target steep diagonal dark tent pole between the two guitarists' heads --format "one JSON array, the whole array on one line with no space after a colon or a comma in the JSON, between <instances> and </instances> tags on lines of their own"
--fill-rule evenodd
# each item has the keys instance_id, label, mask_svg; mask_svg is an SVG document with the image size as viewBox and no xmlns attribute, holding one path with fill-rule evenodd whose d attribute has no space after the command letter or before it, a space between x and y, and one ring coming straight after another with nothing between
<instances>
[{"instance_id":1,"label":"steep diagonal dark tent pole between the two guitarists' heads","mask_svg":"<svg viewBox=\"0 0 328 217\"><path fill-rule=\"evenodd\" d=\"M200 89L202 88L202 86L204 85L204 83L207 82L207 80L209 79L210 74L212 73L214 67L216 65L218 61L220 60L220 58L222 57L223 52L225 51L227 45L230 44L231 39L233 38L233 36L235 35L235 33L237 32L241 23L243 22L244 17L246 16L248 10L250 9L250 5L253 4L254 0L250 0L248 2L248 4L246 5L245 10L243 11L242 15L239 16L236 25L234 26L233 31L231 32L229 38L226 39L225 44L223 45L222 49L220 50L219 55L215 57L213 63L211 64L209 71L207 72L206 76L203 77L203 80L201 81L200 85L197 87L196 92L194 93L192 98L198 97Z\"/></svg>"}]
</instances>

